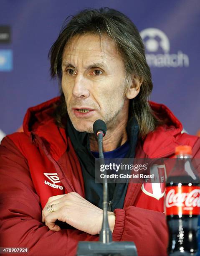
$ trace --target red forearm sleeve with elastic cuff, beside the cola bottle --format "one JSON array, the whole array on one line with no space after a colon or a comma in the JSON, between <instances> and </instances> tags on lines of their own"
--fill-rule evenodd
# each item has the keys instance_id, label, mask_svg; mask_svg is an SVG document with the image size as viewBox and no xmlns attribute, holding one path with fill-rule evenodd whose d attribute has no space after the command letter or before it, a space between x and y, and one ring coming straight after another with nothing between
<instances>
[{"instance_id":1,"label":"red forearm sleeve with elastic cuff, beside the cola bottle","mask_svg":"<svg viewBox=\"0 0 200 256\"><path fill-rule=\"evenodd\" d=\"M134 206L114 212L114 241L134 241L138 255L167 255L168 232L162 212Z\"/></svg>"}]
</instances>

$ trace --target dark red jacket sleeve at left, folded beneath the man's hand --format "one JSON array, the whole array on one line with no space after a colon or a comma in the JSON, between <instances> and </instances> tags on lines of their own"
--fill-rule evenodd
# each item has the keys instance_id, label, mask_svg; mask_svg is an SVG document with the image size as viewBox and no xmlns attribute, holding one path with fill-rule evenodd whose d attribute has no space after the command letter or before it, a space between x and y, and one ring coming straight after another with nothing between
<instances>
[{"instance_id":1,"label":"dark red jacket sleeve at left, folded beneath the man's hand","mask_svg":"<svg viewBox=\"0 0 200 256\"><path fill-rule=\"evenodd\" d=\"M75 255L78 241L98 241L80 230L51 231L28 165L9 138L0 145L0 247L28 247L28 255Z\"/></svg>"}]
</instances>

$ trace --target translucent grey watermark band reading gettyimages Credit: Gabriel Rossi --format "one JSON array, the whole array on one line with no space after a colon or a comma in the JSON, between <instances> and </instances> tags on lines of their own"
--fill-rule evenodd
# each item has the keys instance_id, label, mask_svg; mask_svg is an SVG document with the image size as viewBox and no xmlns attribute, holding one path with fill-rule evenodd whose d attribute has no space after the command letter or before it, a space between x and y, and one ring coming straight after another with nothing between
<instances>
[{"instance_id":1,"label":"translucent grey watermark band reading gettyimages Credit: Gabriel Rossi","mask_svg":"<svg viewBox=\"0 0 200 256\"><path fill-rule=\"evenodd\" d=\"M95 182L103 183L166 183L177 159L96 159ZM192 165L191 165L192 163ZM188 161L187 168L199 166L200 159ZM199 168L199 167L198 167Z\"/></svg>"}]
</instances>

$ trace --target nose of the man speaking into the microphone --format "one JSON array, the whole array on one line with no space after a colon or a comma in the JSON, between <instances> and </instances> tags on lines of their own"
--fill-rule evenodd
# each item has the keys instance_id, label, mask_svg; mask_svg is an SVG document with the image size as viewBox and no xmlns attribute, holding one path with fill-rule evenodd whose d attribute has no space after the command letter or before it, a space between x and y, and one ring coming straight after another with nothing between
<instances>
[{"instance_id":1,"label":"nose of the man speaking into the microphone","mask_svg":"<svg viewBox=\"0 0 200 256\"><path fill-rule=\"evenodd\" d=\"M73 96L76 98L89 97L88 81L82 75L77 75L73 86Z\"/></svg>"}]
</instances>

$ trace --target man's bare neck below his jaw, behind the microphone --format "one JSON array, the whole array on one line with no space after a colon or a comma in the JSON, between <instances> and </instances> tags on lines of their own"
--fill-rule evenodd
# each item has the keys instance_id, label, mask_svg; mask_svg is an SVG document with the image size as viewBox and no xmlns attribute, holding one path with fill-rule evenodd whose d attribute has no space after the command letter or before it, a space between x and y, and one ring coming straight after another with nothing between
<instances>
[{"instance_id":1,"label":"man's bare neck below his jaw, behind the microphone","mask_svg":"<svg viewBox=\"0 0 200 256\"><path fill-rule=\"evenodd\" d=\"M127 120L118 123L114 130L108 130L103 139L103 151L113 151L114 149L122 146L127 141ZM90 149L91 151L99 151L98 141L94 134L90 135Z\"/></svg>"}]
</instances>

